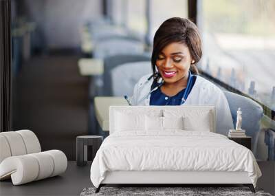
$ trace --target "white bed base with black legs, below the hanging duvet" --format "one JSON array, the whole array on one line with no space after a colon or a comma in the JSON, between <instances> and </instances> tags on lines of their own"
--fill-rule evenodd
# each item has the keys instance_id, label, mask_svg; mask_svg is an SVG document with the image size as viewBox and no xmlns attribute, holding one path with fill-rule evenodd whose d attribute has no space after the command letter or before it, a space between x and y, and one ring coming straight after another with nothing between
<instances>
[{"instance_id":1,"label":"white bed base with black legs, below the hanging duvet","mask_svg":"<svg viewBox=\"0 0 275 196\"><path fill-rule=\"evenodd\" d=\"M96 188L99 192L107 184L159 184L175 186L186 184L243 184L255 193L247 172L229 171L112 171Z\"/></svg>"}]
</instances>

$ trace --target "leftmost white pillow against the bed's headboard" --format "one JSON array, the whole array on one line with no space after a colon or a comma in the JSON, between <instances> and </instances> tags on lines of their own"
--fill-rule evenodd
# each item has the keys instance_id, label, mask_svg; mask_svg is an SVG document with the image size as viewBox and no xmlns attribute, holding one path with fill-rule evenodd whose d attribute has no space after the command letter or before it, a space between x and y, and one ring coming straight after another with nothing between
<instances>
[{"instance_id":1,"label":"leftmost white pillow against the bed's headboard","mask_svg":"<svg viewBox=\"0 0 275 196\"><path fill-rule=\"evenodd\" d=\"M145 115L115 112L115 131L137 131L145 129Z\"/></svg>"}]
</instances>

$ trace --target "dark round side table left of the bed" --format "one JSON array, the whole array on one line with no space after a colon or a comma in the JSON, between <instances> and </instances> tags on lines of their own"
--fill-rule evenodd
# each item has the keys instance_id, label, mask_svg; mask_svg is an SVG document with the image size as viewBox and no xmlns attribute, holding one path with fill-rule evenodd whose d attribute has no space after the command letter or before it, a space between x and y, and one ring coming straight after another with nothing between
<instances>
[{"instance_id":1,"label":"dark round side table left of the bed","mask_svg":"<svg viewBox=\"0 0 275 196\"><path fill-rule=\"evenodd\" d=\"M99 135L83 135L76 137L76 164L85 166L87 164L87 146L92 146L92 160L96 156L103 137Z\"/></svg>"}]
</instances>

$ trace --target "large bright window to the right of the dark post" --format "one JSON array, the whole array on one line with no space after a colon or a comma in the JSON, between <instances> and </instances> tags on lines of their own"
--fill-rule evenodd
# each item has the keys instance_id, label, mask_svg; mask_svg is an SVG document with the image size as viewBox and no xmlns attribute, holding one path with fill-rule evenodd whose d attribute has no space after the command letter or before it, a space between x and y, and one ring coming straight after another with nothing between
<instances>
[{"instance_id":1,"label":"large bright window to the right of the dark post","mask_svg":"<svg viewBox=\"0 0 275 196\"><path fill-rule=\"evenodd\" d=\"M275 109L275 1L199 1L201 69Z\"/></svg>"}]
</instances>

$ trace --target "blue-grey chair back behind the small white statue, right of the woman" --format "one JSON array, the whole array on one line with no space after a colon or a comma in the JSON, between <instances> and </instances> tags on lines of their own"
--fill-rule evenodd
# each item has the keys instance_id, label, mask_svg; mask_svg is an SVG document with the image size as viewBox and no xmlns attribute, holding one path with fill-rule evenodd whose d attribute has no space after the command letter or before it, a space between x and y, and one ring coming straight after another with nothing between
<instances>
[{"instance_id":1,"label":"blue-grey chair back behind the small white statue, right of the woman","mask_svg":"<svg viewBox=\"0 0 275 196\"><path fill-rule=\"evenodd\" d=\"M234 127L236 126L236 111L241 107L243 118L241 128L245 129L246 135L252 137L252 151L256 154L263 108L250 98L229 91L224 91L224 94L228 99Z\"/></svg>"}]
</instances>

